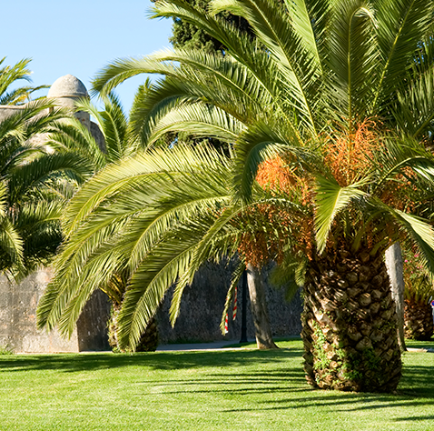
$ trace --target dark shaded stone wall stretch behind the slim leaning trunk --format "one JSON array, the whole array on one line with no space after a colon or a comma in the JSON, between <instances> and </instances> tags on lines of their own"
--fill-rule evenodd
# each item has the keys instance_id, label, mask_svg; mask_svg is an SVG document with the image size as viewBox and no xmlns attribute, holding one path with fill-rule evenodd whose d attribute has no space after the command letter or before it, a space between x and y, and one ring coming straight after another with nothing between
<instances>
[{"instance_id":1,"label":"dark shaded stone wall stretch behind the slim leaning trunk","mask_svg":"<svg viewBox=\"0 0 434 431\"><path fill-rule=\"evenodd\" d=\"M290 304L283 292L271 286L268 272L263 273L267 286L267 302L270 312L273 336L291 336L301 333L301 298L296 296ZM227 289L231 282L231 271L223 265L202 266L182 296L180 316L175 326L169 321L173 289L165 297L163 306L157 313L160 343L208 342L222 339L239 341L242 326L242 291L238 293L238 315L232 321L232 307L229 313L229 332L222 336L220 322ZM254 327L247 294L247 337L254 338Z\"/></svg>"}]
</instances>

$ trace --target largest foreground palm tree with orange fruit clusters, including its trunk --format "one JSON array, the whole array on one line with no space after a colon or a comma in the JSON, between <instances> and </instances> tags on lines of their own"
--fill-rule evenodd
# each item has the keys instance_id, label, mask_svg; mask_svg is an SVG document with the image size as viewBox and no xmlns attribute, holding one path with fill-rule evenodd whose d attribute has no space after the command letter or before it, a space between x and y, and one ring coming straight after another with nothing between
<instances>
[{"instance_id":1,"label":"largest foreground palm tree with orange fruit clusters, including its trunk","mask_svg":"<svg viewBox=\"0 0 434 431\"><path fill-rule=\"evenodd\" d=\"M245 18L257 41L214 15L223 10ZM232 158L206 147L154 149L97 175L69 206L58 285L40 325L60 319L71 331L84 296L75 286L92 290L128 267L121 343L134 346L179 278L175 319L204 260L240 253L242 265L257 267L272 258L304 286L308 381L394 390L400 351L383 253L410 242L424 265L434 263L433 230L411 215L432 192L432 12L433 2L409 0L296 0L286 9L216 0L209 14L159 2L156 16L197 25L225 55L173 50L117 61L95 88L165 75L136 99L132 125L143 145L181 131L228 142Z\"/></svg>"}]
</instances>

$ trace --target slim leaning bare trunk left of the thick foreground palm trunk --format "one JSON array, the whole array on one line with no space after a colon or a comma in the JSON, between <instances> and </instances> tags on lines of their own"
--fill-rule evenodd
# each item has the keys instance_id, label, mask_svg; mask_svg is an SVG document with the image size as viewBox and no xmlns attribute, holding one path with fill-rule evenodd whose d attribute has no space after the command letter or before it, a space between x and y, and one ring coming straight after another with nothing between
<instances>
[{"instance_id":1,"label":"slim leaning bare trunk left of the thick foreground palm trunk","mask_svg":"<svg viewBox=\"0 0 434 431\"><path fill-rule=\"evenodd\" d=\"M247 286L249 287L249 295L251 298L253 324L258 348L279 348L274 344L274 341L272 341L270 319L268 316L261 271L250 264L247 266Z\"/></svg>"}]
</instances>

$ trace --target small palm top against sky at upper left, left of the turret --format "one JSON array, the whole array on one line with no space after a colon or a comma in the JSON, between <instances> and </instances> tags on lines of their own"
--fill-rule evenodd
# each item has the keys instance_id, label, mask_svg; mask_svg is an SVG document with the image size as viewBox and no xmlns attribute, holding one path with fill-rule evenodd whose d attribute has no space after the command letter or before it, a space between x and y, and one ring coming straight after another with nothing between
<instances>
[{"instance_id":1,"label":"small palm top against sky at upper left, left of the turret","mask_svg":"<svg viewBox=\"0 0 434 431\"><path fill-rule=\"evenodd\" d=\"M0 105L23 105L30 101L32 93L47 88L47 85L32 86L26 85L11 89L16 81L25 80L32 82L30 77L32 71L27 68L30 58L20 60L15 65L5 65L0 68ZM0 66L5 63L5 57L0 59Z\"/></svg>"}]
</instances>

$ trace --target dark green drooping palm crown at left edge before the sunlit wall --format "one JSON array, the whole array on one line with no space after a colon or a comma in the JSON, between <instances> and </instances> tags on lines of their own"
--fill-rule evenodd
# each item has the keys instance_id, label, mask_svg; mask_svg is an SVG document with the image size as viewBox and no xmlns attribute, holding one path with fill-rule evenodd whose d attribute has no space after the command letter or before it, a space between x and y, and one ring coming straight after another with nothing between
<instances>
[{"instance_id":1,"label":"dark green drooping palm crown at left edge before the sunlit wall","mask_svg":"<svg viewBox=\"0 0 434 431\"><path fill-rule=\"evenodd\" d=\"M88 176L80 155L46 141L65 115L52 108L31 102L0 122L0 271L17 278L54 256L63 206Z\"/></svg>"}]
</instances>

